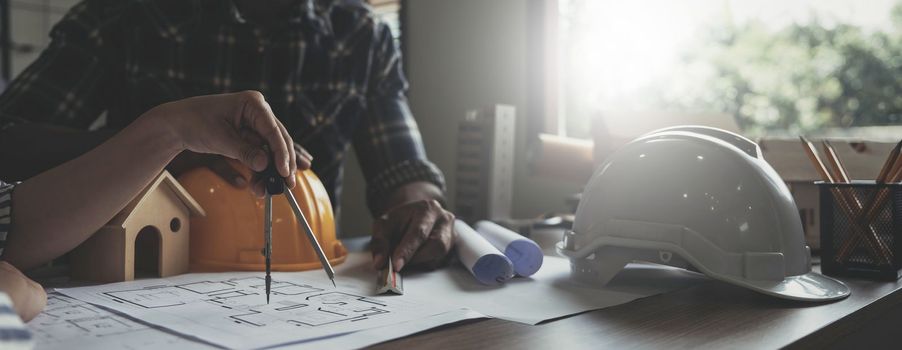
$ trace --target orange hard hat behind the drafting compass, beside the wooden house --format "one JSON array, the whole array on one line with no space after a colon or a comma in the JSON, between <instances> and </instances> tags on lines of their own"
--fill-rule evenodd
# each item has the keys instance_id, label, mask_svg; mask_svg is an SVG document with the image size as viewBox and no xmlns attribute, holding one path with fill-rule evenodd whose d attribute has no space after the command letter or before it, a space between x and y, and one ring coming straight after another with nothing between
<instances>
[{"instance_id":1,"label":"orange hard hat behind the drafting compass, beside the wooden house","mask_svg":"<svg viewBox=\"0 0 902 350\"><path fill-rule=\"evenodd\" d=\"M251 170L231 161L245 178ZM291 190L310 228L332 265L348 255L335 237L332 204L313 171L298 171ZM249 188L238 189L207 167L184 173L179 182L207 212L191 218L191 271L263 270L263 199ZM285 196L272 199L272 269L300 271L321 268L319 259Z\"/></svg>"}]
</instances>

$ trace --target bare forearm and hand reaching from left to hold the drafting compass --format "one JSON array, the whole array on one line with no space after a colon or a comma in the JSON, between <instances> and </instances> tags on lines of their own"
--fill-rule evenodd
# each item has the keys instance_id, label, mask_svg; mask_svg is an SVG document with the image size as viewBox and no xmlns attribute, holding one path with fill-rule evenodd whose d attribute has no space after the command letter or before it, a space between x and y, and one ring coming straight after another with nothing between
<instances>
[{"instance_id":1,"label":"bare forearm and hand reaching from left to hold the drafting compass","mask_svg":"<svg viewBox=\"0 0 902 350\"><path fill-rule=\"evenodd\" d=\"M24 181L13 192L3 258L29 269L77 247L110 221L184 151L234 158L263 171L272 153L293 187L294 142L254 91L157 106L88 153ZM258 195L263 182L255 184Z\"/></svg>"}]
</instances>

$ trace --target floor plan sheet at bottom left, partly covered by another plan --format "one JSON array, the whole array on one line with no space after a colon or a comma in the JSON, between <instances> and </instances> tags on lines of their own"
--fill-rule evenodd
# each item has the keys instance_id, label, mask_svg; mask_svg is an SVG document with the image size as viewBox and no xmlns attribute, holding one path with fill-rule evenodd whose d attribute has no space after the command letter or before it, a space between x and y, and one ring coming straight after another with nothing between
<instances>
[{"instance_id":1,"label":"floor plan sheet at bottom left, partly covered by another plan","mask_svg":"<svg viewBox=\"0 0 902 350\"><path fill-rule=\"evenodd\" d=\"M215 349L59 293L28 329L37 349Z\"/></svg>"}]
</instances>

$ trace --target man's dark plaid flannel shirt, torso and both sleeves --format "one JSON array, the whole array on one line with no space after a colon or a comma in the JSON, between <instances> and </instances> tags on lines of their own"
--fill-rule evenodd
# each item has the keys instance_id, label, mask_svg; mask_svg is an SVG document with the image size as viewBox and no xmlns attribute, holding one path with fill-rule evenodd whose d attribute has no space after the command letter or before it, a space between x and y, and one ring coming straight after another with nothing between
<instances>
[{"instance_id":1,"label":"man's dark plaid flannel shirt, torso and both sleeves","mask_svg":"<svg viewBox=\"0 0 902 350\"><path fill-rule=\"evenodd\" d=\"M388 27L359 1L299 1L289 15L261 26L226 0L85 0L0 96L0 126L87 129L106 112L106 127L121 129L164 102L258 90L314 156L336 209L349 144L371 211L406 183L444 188Z\"/></svg>"}]
</instances>

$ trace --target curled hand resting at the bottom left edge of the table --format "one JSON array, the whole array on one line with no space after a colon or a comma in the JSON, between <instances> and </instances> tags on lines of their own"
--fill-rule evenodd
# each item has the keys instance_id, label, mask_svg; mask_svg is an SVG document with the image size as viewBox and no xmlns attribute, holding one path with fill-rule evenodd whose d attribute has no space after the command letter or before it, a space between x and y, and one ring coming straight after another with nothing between
<instances>
[{"instance_id":1,"label":"curled hand resting at the bottom left edge of the table","mask_svg":"<svg viewBox=\"0 0 902 350\"><path fill-rule=\"evenodd\" d=\"M0 290L9 295L23 321L31 321L47 305L44 288L6 261L0 261Z\"/></svg>"}]
</instances>

